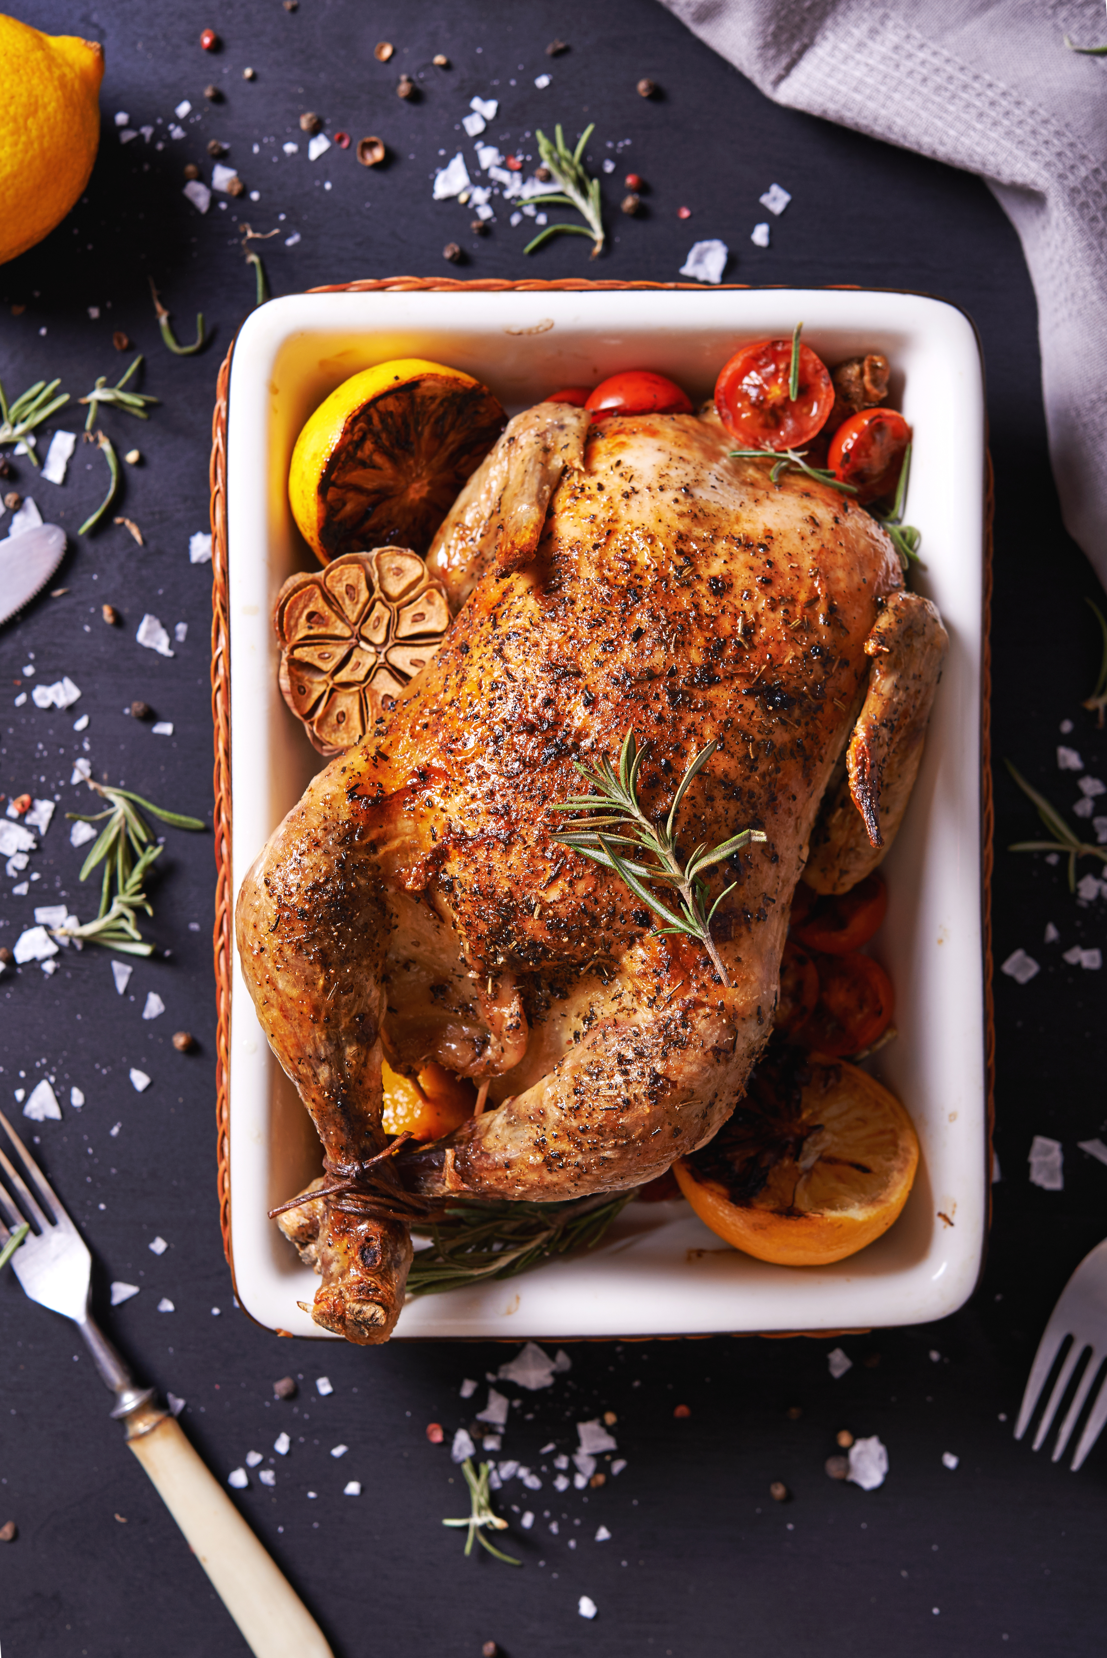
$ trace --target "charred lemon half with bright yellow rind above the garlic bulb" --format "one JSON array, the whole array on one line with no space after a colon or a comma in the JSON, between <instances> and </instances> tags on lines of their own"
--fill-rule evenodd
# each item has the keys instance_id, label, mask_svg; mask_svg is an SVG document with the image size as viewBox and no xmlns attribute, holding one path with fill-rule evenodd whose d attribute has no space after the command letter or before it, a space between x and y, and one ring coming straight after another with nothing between
<instances>
[{"instance_id":1,"label":"charred lemon half with bright yellow rind above the garlic bulb","mask_svg":"<svg viewBox=\"0 0 1107 1658\"><path fill-rule=\"evenodd\" d=\"M507 416L472 375L419 356L345 380L297 438L288 501L320 564L361 547L426 552Z\"/></svg>"}]
</instances>

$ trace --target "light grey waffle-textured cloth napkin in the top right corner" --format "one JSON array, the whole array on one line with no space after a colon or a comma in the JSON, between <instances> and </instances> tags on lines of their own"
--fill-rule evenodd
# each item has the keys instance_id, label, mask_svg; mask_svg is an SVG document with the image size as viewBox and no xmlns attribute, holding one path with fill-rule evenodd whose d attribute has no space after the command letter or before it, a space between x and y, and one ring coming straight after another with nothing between
<instances>
[{"instance_id":1,"label":"light grey waffle-textured cloth napkin in the top right corner","mask_svg":"<svg viewBox=\"0 0 1107 1658\"><path fill-rule=\"evenodd\" d=\"M779 104L979 172L1037 293L1049 453L1107 585L1107 41L1074 0L661 0Z\"/></svg>"}]
</instances>

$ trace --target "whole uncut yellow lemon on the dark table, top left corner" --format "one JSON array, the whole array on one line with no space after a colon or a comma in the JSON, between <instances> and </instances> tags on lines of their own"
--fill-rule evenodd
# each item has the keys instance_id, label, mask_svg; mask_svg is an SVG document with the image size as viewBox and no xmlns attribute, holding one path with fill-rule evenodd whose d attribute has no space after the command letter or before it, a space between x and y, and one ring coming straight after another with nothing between
<instances>
[{"instance_id":1,"label":"whole uncut yellow lemon on the dark table, top left corner","mask_svg":"<svg viewBox=\"0 0 1107 1658\"><path fill-rule=\"evenodd\" d=\"M65 219L99 143L99 41L0 15L0 265Z\"/></svg>"}]
</instances>

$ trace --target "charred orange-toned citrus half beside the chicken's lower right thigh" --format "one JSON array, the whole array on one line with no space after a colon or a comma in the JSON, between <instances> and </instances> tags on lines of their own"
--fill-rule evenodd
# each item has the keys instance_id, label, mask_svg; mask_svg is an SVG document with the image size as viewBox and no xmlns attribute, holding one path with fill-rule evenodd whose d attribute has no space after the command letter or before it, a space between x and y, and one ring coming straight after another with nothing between
<instances>
[{"instance_id":1,"label":"charred orange-toned citrus half beside the chicken's lower right thigh","mask_svg":"<svg viewBox=\"0 0 1107 1658\"><path fill-rule=\"evenodd\" d=\"M762 1063L716 1137L673 1166L699 1219L759 1260L822 1267L865 1248L906 1202L918 1139L855 1064Z\"/></svg>"}]
</instances>

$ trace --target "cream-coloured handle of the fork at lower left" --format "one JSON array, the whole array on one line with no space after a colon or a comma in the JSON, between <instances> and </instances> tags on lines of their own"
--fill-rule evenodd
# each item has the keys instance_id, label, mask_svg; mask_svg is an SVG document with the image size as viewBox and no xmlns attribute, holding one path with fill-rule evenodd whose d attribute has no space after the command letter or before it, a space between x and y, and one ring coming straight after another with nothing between
<instances>
[{"instance_id":1,"label":"cream-coloured handle of the fork at lower left","mask_svg":"<svg viewBox=\"0 0 1107 1658\"><path fill-rule=\"evenodd\" d=\"M255 1658L333 1658L323 1631L172 1416L128 1421L128 1444ZM146 1414L146 1421L157 1413Z\"/></svg>"}]
</instances>

